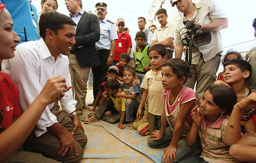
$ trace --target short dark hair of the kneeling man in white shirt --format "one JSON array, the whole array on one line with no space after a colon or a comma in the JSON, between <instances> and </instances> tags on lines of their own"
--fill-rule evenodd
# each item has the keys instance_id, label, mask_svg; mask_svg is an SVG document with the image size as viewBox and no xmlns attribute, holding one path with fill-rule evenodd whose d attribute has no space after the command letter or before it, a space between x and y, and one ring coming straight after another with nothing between
<instances>
[{"instance_id":1,"label":"short dark hair of the kneeling man in white shirt","mask_svg":"<svg viewBox=\"0 0 256 163\"><path fill-rule=\"evenodd\" d=\"M70 24L76 26L76 23L69 17L59 12L47 12L40 16L39 29L40 36L45 39L45 31L47 29L52 30L55 35L58 35L59 29L64 29L64 24Z\"/></svg>"}]
</instances>

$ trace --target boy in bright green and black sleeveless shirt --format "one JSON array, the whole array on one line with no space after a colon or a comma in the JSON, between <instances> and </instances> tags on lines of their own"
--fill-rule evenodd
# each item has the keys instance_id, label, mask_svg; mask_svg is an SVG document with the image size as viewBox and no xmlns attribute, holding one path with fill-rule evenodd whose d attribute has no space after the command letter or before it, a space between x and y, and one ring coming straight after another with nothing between
<instances>
[{"instance_id":1,"label":"boy in bright green and black sleeveless shirt","mask_svg":"<svg viewBox=\"0 0 256 163\"><path fill-rule=\"evenodd\" d=\"M148 45L145 45L146 35L143 31L139 31L136 33L135 42L137 43L137 48L133 51L134 56L134 65L136 72L136 79L143 81L144 76L147 71L149 71L149 49Z\"/></svg>"}]
</instances>

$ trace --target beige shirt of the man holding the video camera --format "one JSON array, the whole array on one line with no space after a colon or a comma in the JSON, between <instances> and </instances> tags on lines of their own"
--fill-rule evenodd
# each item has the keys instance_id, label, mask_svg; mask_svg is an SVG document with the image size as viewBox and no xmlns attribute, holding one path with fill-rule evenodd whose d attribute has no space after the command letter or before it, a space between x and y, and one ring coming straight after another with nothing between
<instances>
[{"instance_id":1,"label":"beige shirt of the man holding the video camera","mask_svg":"<svg viewBox=\"0 0 256 163\"><path fill-rule=\"evenodd\" d=\"M226 14L224 11L214 2L213 0L205 0L199 3L194 3L196 6L196 11L194 13L193 19L198 18L199 21L196 23L201 24L209 24L218 19L226 18ZM188 20L185 18L184 14L178 20L175 27L175 39L174 44L179 45L182 44L182 40L186 35L180 36L185 30L181 30L181 28L185 27L183 21ZM180 31L181 30L181 31ZM179 34L180 32L180 34ZM197 33L202 32L197 31ZM215 57L216 54L219 54L223 51L222 49L222 39L220 31L210 31L211 32L211 43L202 45L199 47L192 48L192 64L197 65L201 54L203 54L204 61L209 61L211 58ZM183 48L185 53L187 47ZM186 54L186 53L185 53Z\"/></svg>"}]
</instances>

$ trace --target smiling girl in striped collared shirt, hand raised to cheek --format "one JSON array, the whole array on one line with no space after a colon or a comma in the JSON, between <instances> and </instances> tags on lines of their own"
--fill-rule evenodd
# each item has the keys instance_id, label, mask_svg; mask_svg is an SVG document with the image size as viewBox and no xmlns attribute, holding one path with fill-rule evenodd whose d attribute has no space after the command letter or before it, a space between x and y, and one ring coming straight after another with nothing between
<instances>
[{"instance_id":1,"label":"smiling girl in striped collared shirt, hand raised to cheek","mask_svg":"<svg viewBox=\"0 0 256 163\"><path fill-rule=\"evenodd\" d=\"M180 163L234 163L225 144L225 128L237 102L235 92L222 85L208 86L203 97L192 109L193 124L187 133L187 145L192 146L199 134L203 151L200 156ZM199 112L197 108L199 107Z\"/></svg>"}]
</instances>

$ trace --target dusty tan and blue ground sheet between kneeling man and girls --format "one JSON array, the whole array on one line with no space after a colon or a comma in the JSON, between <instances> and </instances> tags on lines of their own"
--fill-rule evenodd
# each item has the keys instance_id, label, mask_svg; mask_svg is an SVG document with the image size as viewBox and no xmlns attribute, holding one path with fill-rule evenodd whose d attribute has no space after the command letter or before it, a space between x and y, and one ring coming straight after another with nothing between
<instances>
[{"instance_id":1,"label":"dusty tan and blue ground sheet between kneeling man and girls","mask_svg":"<svg viewBox=\"0 0 256 163\"><path fill-rule=\"evenodd\" d=\"M132 123L129 124L132 125ZM122 159L121 162L133 163L161 162L164 148L152 149L147 144L148 136L141 136L134 129L128 130L125 128L121 130L117 128L117 125L118 123L111 124L102 120L91 124L83 124L85 134L88 136L88 144L85 146L83 158L115 158L114 160L117 162ZM107 132L97 129L99 127L103 127ZM126 147L126 144L133 149ZM87 163L84 161L81 162Z\"/></svg>"}]
</instances>

